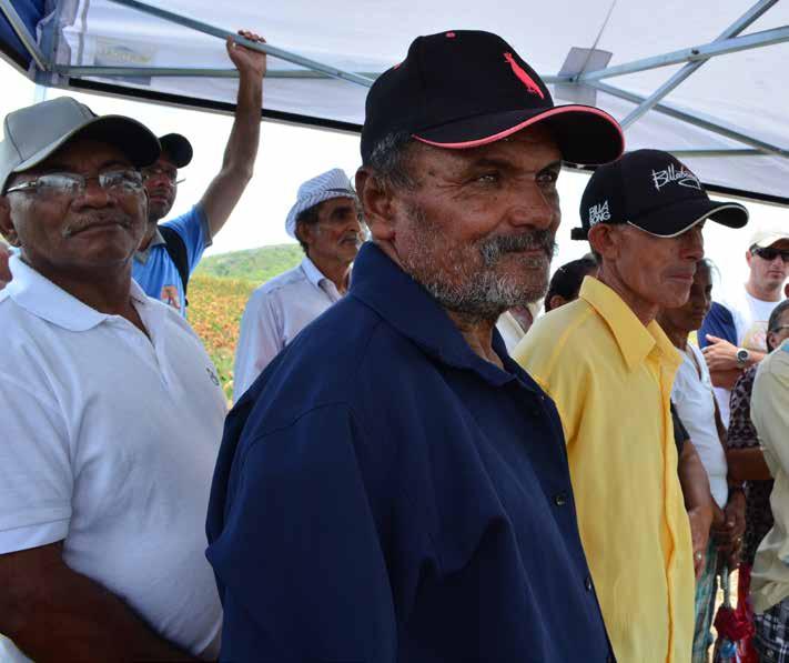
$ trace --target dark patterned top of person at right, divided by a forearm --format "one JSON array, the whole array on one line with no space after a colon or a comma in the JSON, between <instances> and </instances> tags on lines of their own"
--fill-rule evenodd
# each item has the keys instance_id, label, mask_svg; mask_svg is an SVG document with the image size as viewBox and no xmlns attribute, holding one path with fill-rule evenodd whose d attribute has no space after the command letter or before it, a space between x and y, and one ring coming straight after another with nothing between
<instances>
[{"instance_id":1,"label":"dark patterned top of person at right, divided by a forearm","mask_svg":"<svg viewBox=\"0 0 789 663\"><path fill-rule=\"evenodd\" d=\"M750 394L758 364L750 366L731 390L731 420L726 445L728 449L751 449L759 446L759 439L750 420ZM747 481L746 492L746 533L742 546L742 562L753 565L756 549L772 528L770 492L772 480Z\"/></svg>"}]
</instances>

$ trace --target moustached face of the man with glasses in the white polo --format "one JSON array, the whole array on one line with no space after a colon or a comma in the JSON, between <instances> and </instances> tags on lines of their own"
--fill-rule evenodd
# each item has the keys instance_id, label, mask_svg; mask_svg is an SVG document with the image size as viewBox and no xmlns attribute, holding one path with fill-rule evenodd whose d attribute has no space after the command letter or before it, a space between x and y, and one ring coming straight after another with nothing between
<instances>
[{"instance_id":1,"label":"moustached face of the man with glasses in the white polo","mask_svg":"<svg viewBox=\"0 0 789 663\"><path fill-rule=\"evenodd\" d=\"M136 187L99 185L99 174L119 172L136 173L118 148L94 140L71 141L34 170L13 178L10 188L43 174L74 173L88 178L84 190L9 192L0 230L44 275L122 265L140 244L148 204L141 180Z\"/></svg>"}]
</instances>

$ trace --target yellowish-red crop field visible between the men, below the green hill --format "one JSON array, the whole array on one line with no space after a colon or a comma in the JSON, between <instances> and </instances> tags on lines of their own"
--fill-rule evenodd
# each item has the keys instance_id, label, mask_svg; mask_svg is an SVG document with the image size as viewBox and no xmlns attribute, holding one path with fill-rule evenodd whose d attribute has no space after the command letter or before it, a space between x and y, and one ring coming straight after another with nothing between
<instances>
[{"instance_id":1,"label":"yellowish-red crop field visible between the men, below the green hill","mask_svg":"<svg viewBox=\"0 0 789 663\"><path fill-rule=\"evenodd\" d=\"M239 325L255 281L195 273L189 281L189 322L198 332L230 401L233 395L233 356Z\"/></svg>"}]
</instances>

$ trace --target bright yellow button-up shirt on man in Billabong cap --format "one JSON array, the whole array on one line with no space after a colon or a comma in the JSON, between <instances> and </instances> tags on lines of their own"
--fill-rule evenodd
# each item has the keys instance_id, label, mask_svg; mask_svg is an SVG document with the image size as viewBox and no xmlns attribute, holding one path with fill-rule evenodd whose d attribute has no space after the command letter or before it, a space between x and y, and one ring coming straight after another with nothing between
<instances>
[{"instance_id":1,"label":"bright yellow button-up shirt on man in Billabong cap","mask_svg":"<svg viewBox=\"0 0 789 663\"><path fill-rule=\"evenodd\" d=\"M690 526L669 410L680 359L587 277L514 358L556 402L578 525L620 663L686 663L694 637Z\"/></svg>"}]
</instances>

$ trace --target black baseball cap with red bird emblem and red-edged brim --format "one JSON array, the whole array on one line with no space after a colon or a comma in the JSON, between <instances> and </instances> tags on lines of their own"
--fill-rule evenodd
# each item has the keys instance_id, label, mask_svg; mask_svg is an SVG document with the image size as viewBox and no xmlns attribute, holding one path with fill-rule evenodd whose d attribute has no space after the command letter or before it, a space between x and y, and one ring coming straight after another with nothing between
<instances>
[{"instance_id":1,"label":"black baseball cap with red bird emblem and red-edged brim","mask_svg":"<svg viewBox=\"0 0 789 663\"><path fill-rule=\"evenodd\" d=\"M589 106L554 106L539 76L497 34L451 30L417 37L406 59L367 93L362 161L393 132L446 149L495 142L548 127L565 161L597 164L625 149L617 121Z\"/></svg>"}]
</instances>

